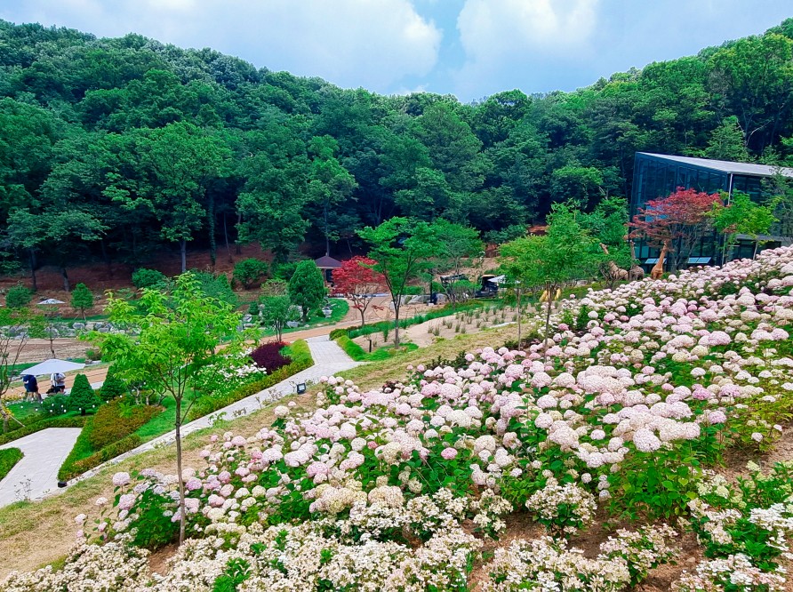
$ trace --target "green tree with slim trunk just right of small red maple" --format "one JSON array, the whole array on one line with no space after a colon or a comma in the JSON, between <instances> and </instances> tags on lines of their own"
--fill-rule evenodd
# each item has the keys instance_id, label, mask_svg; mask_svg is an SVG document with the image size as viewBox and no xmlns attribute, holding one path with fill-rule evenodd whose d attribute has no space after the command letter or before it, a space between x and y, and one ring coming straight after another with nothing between
<instances>
[{"instance_id":1,"label":"green tree with slim trunk just right of small red maple","mask_svg":"<svg viewBox=\"0 0 793 592\"><path fill-rule=\"evenodd\" d=\"M399 311L410 282L431 267L430 258L437 253L437 237L424 221L391 218L377 228L366 227L358 235L371 245L372 267L382 274L394 308L394 344L399 345Z\"/></svg>"}]
</instances>

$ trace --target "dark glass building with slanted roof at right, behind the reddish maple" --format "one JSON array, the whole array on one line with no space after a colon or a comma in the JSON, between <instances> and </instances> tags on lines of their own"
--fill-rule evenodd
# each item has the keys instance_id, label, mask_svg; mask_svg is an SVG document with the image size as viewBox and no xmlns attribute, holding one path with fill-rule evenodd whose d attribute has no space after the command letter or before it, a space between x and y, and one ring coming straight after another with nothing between
<instances>
[{"instance_id":1,"label":"dark glass building with slanted roof at right, behind the reddish maple","mask_svg":"<svg viewBox=\"0 0 793 592\"><path fill-rule=\"evenodd\" d=\"M666 197L677 188L694 188L705 193L725 191L730 196L740 191L748 194L753 201L762 202L767 193L768 180L775 175L793 178L793 169L767 166L765 164L731 163L724 160L693 158L691 156L669 156L637 152L633 172L633 188L630 196L630 218L644 208L648 200ZM773 249L781 245L793 244L793 228L789 224L777 223L771 235L759 236L757 250ZM704 236L700 244L693 246L689 253L688 265L720 265L722 261L722 238L715 231ZM727 260L751 257L756 241L750 236L738 236ZM658 261L659 251L645 241L635 242L636 257L645 269L652 268ZM666 260L669 265L669 258Z\"/></svg>"}]
</instances>

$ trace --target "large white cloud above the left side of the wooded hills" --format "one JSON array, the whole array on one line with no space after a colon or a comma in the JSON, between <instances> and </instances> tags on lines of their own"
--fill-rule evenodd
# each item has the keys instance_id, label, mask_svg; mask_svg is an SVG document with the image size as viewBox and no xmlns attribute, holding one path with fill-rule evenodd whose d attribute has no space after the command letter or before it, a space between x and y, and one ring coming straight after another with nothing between
<instances>
[{"instance_id":1,"label":"large white cloud above the left side of the wooded hills","mask_svg":"<svg viewBox=\"0 0 793 592\"><path fill-rule=\"evenodd\" d=\"M390 92L435 67L442 33L411 0L25 0L0 18L212 47L257 66Z\"/></svg>"}]
</instances>

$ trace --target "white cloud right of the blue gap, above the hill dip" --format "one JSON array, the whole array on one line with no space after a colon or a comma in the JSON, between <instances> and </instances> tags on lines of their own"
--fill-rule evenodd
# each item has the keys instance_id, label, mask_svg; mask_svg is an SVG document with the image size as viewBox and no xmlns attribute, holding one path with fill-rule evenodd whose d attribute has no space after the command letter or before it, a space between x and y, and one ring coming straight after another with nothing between
<instances>
[{"instance_id":1,"label":"white cloud right of the blue gap, above the hill dip","mask_svg":"<svg viewBox=\"0 0 793 592\"><path fill-rule=\"evenodd\" d=\"M598 2L466 0L457 19L466 54L455 76L458 91L468 94L473 86L486 87L487 81L516 68L547 68L552 62L564 68L581 60L596 30Z\"/></svg>"}]
</instances>

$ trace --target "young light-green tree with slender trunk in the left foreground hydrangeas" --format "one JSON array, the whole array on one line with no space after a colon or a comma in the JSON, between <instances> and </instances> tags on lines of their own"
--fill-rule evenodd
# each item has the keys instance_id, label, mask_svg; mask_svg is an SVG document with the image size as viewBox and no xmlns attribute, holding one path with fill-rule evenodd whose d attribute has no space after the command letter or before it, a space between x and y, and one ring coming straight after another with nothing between
<instances>
[{"instance_id":1,"label":"young light-green tree with slender trunk in the left foreground hydrangeas","mask_svg":"<svg viewBox=\"0 0 793 592\"><path fill-rule=\"evenodd\" d=\"M184 406L196 373L208 364L222 363L222 356L242 351L244 332L237 332L241 316L227 302L202 292L191 273L177 276L168 292L145 288L133 306L128 300L108 298L110 321L129 332L92 332L102 357L116 365L118 376L129 383L145 382L176 404L176 468L179 478L180 543L185 533L184 479L182 478L181 425L189 412ZM225 348L216 351L220 340ZM191 400L192 401L192 400Z\"/></svg>"}]
</instances>

